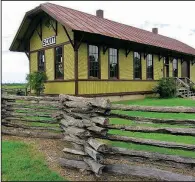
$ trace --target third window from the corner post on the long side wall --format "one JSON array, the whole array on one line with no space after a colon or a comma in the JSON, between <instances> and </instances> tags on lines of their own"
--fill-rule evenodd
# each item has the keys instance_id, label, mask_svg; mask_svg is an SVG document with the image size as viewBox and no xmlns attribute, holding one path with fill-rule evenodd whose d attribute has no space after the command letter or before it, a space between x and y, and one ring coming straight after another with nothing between
<instances>
[{"instance_id":1,"label":"third window from the corner post on the long side wall","mask_svg":"<svg viewBox=\"0 0 195 182\"><path fill-rule=\"evenodd\" d=\"M134 52L134 79L141 79L141 54Z\"/></svg>"}]
</instances>

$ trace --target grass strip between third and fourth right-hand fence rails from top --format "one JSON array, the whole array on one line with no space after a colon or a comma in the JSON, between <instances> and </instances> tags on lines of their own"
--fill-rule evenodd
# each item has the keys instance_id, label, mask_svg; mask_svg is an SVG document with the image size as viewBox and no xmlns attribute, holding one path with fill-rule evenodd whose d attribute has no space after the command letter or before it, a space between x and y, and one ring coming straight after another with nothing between
<instances>
[{"instance_id":1,"label":"grass strip between third and fourth right-hand fence rails from top","mask_svg":"<svg viewBox=\"0 0 195 182\"><path fill-rule=\"evenodd\" d=\"M121 130L109 130L108 133L114 135L142 138L142 139L151 139L151 140L195 145L195 137L193 136L177 136L171 134L143 133L143 132L131 132L131 131L121 131Z\"/></svg>"}]
</instances>

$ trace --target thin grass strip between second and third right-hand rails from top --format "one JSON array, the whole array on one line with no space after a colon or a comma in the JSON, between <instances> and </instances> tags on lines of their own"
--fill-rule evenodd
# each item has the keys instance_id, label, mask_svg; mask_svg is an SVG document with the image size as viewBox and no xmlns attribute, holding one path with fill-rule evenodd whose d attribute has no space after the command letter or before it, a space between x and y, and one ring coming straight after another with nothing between
<instances>
[{"instance_id":1,"label":"thin grass strip between second and third right-hand rails from top","mask_svg":"<svg viewBox=\"0 0 195 182\"><path fill-rule=\"evenodd\" d=\"M135 121L130 121L126 119L111 118L110 124L128 125L128 126L145 126L153 128L194 128L195 126L188 125L170 125L163 123L140 123Z\"/></svg>"}]
</instances>

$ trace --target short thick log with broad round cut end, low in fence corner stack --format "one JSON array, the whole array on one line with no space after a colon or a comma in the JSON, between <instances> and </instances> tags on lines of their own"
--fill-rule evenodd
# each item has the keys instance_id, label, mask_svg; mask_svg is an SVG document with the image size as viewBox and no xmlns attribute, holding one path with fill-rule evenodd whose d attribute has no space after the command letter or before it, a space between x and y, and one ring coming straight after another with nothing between
<instances>
[{"instance_id":1,"label":"short thick log with broad round cut end, low in fence corner stack","mask_svg":"<svg viewBox=\"0 0 195 182\"><path fill-rule=\"evenodd\" d=\"M98 141L97 139L89 138L87 142L98 152L108 151L108 146L105 143Z\"/></svg>"}]
</instances>

